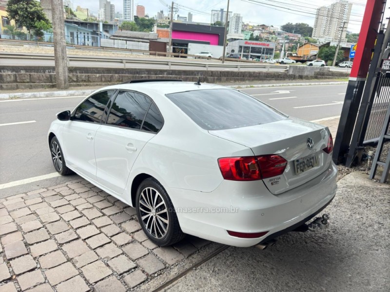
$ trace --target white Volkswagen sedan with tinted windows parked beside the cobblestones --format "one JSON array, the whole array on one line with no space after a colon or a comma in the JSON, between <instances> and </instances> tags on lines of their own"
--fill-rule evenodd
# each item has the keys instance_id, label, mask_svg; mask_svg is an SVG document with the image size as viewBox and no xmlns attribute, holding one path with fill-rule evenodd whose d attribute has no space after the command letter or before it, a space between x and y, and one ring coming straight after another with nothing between
<instances>
[{"instance_id":1,"label":"white Volkswagen sedan with tinted windows parked beside the cobblestones","mask_svg":"<svg viewBox=\"0 0 390 292\"><path fill-rule=\"evenodd\" d=\"M253 246L332 201L327 127L234 89L147 81L102 88L60 112L48 143L60 174L76 172L134 206L157 245L191 234Z\"/></svg>"}]
</instances>

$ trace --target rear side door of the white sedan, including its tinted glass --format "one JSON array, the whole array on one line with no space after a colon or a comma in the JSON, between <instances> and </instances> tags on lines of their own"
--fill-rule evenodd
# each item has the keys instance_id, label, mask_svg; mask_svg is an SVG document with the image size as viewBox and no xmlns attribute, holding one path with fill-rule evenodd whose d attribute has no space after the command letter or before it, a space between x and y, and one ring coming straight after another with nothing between
<instances>
[{"instance_id":1,"label":"rear side door of the white sedan, including its tinted glass","mask_svg":"<svg viewBox=\"0 0 390 292\"><path fill-rule=\"evenodd\" d=\"M122 194L137 156L161 127L162 117L151 98L119 91L106 124L96 133L98 183Z\"/></svg>"}]
</instances>

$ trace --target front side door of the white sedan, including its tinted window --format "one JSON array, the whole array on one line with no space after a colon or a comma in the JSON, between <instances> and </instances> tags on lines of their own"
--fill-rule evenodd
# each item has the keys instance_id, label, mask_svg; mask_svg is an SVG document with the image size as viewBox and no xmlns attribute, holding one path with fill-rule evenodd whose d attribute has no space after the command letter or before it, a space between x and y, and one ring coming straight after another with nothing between
<instances>
[{"instance_id":1,"label":"front side door of the white sedan, including its tinted window","mask_svg":"<svg viewBox=\"0 0 390 292\"><path fill-rule=\"evenodd\" d=\"M63 128L63 148L66 163L73 169L96 181L94 153L95 134L107 112L107 104L115 90L100 91L85 101L72 113Z\"/></svg>"}]
</instances>

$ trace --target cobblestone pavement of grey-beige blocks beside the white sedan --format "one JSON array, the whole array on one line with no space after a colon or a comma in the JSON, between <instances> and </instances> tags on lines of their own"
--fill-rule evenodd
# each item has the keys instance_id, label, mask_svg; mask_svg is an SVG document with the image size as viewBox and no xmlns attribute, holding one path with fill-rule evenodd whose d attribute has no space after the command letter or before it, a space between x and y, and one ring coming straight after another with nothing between
<instances>
[{"instance_id":1,"label":"cobblestone pavement of grey-beige blocks beside the white sedan","mask_svg":"<svg viewBox=\"0 0 390 292\"><path fill-rule=\"evenodd\" d=\"M157 247L134 208L82 179L1 199L0 238L0 292L137 290L214 244Z\"/></svg>"}]
</instances>

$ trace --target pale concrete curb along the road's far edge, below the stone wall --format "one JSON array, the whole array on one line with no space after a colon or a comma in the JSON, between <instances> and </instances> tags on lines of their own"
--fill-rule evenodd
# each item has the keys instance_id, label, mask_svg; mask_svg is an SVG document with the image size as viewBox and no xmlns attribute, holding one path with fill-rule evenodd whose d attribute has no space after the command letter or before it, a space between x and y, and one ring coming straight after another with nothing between
<instances>
[{"instance_id":1,"label":"pale concrete curb along the road's far edge, below the stone wall","mask_svg":"<svg viewBox=\"0 0 390 292\"><path fill-rule=\"evenodd\" d=\"M305 82L305 83L277 83L277 84L257 84L257 85L232 85L231 88L256 88L256 87L281 87L281 86L310 86L310 85L339 85L347 84L346 81L333 82ZM44 92L20 92L20 93L0 93L0 99L23 99L42 97L62 97L62 96L82 96L89 95L96 89L68 90L68 91L44 91Z\"/></svg>"}]
</instances>

